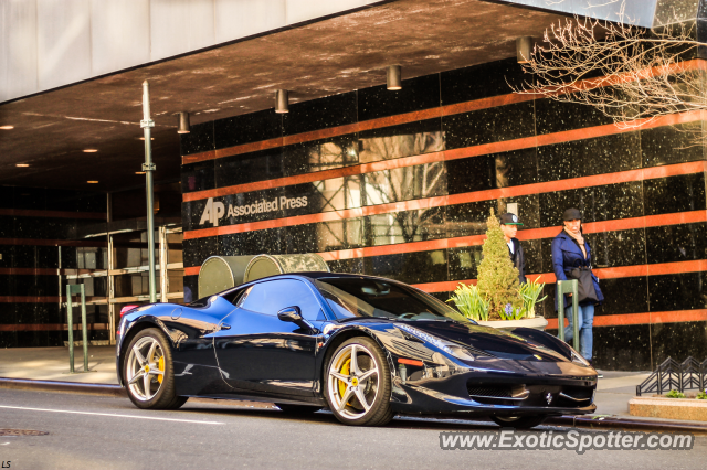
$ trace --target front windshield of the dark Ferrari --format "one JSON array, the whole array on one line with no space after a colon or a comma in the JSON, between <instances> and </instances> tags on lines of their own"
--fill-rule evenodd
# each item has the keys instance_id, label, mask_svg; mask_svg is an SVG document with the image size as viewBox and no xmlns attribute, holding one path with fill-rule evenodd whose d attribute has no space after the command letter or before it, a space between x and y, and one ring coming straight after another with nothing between
<instances>
[{"instance_id":1,"label":"front windshield of the dark Ferrari","mask_svg":"<svg viewBox=\"0 0 707 470\"><path fill-rule=\"evenodd\" d=\"M337 319L380 317L469 322L441 300L402 284L352 277L320 278L316 284Z\"/></svg>"}]
</instances>

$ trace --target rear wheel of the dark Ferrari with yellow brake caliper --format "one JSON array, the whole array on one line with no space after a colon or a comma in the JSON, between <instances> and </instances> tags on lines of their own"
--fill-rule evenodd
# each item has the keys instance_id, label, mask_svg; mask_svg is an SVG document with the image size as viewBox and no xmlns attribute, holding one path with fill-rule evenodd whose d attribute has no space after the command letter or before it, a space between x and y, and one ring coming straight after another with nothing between
<instances>
[{"instance_id":1,"label":"rear wheel of the dark Ferrari with yellow brake caliper","mask_svg":"<svg viewBox=\"0 0 707 470\"><path fill-rule=\"evenodd\" d=\"M130 341L125 350L123 380L138 408L177 409L187 403L187 397L176 394L172 350L157 328L143 330Z\"/></svg>"}]
</instances>

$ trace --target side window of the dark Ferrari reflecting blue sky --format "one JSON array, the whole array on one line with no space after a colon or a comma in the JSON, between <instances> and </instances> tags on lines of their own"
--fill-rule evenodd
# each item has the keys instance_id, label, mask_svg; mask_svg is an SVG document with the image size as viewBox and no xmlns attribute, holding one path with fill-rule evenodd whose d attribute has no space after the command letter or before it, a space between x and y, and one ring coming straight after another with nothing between
<instances>
[{"instance_id":1,"label":"side window of the dark Ferrari reflecting blue sky","mask_svg":"<svg viewBox=\"0 0 707 470\"><path fill-rule=\"evenodd\" d=\"M312 289L302 280L277 279L252 286L241 297L239 307L258 313L276 316L286 307L297 306L302 317L316 321L320 306Z\"/></svg>"}]
</instances>

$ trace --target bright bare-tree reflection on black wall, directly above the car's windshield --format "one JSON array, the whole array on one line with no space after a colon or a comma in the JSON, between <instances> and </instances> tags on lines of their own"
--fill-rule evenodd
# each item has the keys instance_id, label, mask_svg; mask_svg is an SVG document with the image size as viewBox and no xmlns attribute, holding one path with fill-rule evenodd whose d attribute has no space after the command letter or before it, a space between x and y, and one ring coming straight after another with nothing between
<instances>
[{"instance_id":1,"label":"bright bare-tree reflection on black wall, directly above the car's windshield","mask_svg":"<svg viewBox=\"0 0 707 470\"><path fill-rule=\"evenodd\" d=\"M444 150L442 132L419 132L361 139L361 161L381 161ZM397 168L365 175L366 205L425 199L443 194L445 167L442 162ZM374 245L424 239L440 229L436 207L399 211L371 217Z\"/></svg>"}]
</instances>

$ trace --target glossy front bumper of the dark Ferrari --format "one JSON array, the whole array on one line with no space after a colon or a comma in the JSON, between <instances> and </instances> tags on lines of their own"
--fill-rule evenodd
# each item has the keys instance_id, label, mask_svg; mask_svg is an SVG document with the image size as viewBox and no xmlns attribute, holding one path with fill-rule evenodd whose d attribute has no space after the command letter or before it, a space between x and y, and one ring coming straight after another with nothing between
<instances>
[{"instance_id":1,"label":"glossy front bumper of the dark Ferrari","mask_svg":"<svg viewBox=\"0 0 707 470\"><path fill-rule=\"evenodd\" d=\"M467 416L585 415L597 409L597 372L591 367L498 360L468 365L395 371L392 408L408 415Z\"/></svg>"}]
</instances>

